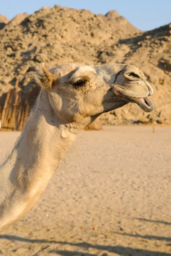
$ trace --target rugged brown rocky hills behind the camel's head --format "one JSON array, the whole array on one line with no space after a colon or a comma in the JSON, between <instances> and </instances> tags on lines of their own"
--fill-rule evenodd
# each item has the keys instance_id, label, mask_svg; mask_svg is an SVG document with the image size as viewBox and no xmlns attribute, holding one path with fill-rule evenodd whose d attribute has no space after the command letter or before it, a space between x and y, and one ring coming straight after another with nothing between
<instances>
[{"instance_id":1,"label":"rugged brown rocky hills behind the camel's head","mask_svg":"<svg viewBox=\"0 0 171 256\"><path fill-rule=\"evenodd\" d=\"M20 21L0 30L0 94L14 87L16 78L21 90L34 86L41 61L49 68L73 61L134 64L151 80L155 110L143 113L128 104L103 114L101 122L171 123L171 24L142 32L116 11L104 16L61 6L43 7Z\"/></svg>"}]
</instances>

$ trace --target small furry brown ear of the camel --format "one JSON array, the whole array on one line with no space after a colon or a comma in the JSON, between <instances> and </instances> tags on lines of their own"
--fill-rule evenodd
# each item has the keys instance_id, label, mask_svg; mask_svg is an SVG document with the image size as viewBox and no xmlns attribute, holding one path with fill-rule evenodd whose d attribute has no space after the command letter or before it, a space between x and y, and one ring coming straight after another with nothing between
<instances>
[{"instance_id":1,"label":"small furry brown ear of the camel","mask_svg":"<svg viewBox=\"0 0 171 256\"><path fill-rule=\"evenodd\" d=\"M45 89L52 88L53 74L46 69L44 62L42 63L41 70L35 73L35 81Z\"/></svg>"}]
</instances>

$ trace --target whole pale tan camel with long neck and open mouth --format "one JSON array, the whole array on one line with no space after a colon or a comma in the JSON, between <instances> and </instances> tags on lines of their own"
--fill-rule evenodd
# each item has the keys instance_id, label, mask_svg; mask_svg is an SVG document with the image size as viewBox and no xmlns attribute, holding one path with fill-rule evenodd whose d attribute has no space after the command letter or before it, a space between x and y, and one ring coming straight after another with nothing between
<instances>
[{"instance_id":1,"label":"whole pale tan camel with long neck and open mouth","mask_svg":"<svg viewBox=\"0 0 171 256\"><path fill-rule=\"evenodd\" d=\"M41 197L78 132L101 113L134 102L146 112L153 94L144 74L128 64L63 64L35 81L41 92L14 148L0 166L0 231Z\"/></svg>"}]
</instances>

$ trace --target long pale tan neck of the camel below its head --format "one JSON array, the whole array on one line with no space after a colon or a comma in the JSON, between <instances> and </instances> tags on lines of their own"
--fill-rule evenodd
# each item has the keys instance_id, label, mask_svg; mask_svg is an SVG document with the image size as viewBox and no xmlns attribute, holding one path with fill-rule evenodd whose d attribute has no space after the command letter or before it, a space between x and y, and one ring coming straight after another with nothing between
<instances>
[{"instance_id":1,"label":"long pale tan neck of the camel below its head","mask_svg":"<svg viewBox=\"0 0 171 256\"><path fill-rule=\"evenodd\" d=\"M65 129L47 93L41 92L12 153L0 167L0 229L7 219L12 223L20 218L43 193L75 140L68 130L62 136Z\"/></svg>"}]
</instances>

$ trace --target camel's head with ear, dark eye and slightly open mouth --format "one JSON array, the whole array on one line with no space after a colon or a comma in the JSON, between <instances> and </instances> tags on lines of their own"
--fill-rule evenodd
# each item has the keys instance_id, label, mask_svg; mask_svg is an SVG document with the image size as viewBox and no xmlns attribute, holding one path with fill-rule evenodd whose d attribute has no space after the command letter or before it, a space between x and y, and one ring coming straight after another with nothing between
<instances>
[{"instance_id":1,"label":"camel's head with ear, dark eye and slightly open mouth","mask_svg":"<svg viewBox=\"0 0 171 256\"><path fill-rule=\"evenodd\" d=\"M47 70L44 64L35 80L48 93L56 115L69 126L93 122L101 113L136 103L145 112L153 110L147 98L153 89L133 65L86 66L63 64Z\"/></svg>"}]
</instances>

